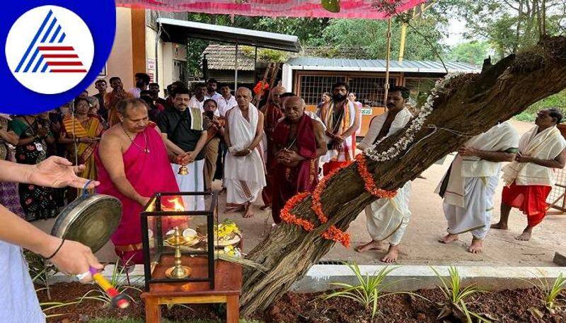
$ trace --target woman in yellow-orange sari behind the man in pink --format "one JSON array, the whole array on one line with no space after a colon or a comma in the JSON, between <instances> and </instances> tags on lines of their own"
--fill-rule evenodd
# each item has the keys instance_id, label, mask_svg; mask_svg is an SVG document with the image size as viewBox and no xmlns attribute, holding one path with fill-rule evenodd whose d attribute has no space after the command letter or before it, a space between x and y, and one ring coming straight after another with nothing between
<instances>
[{"instance_id":1,"label":"woman in yellow-orange sari behind the man in pink","mask_svg":"<svg viewBox=\"0 0 566 323\"><path fill-rule=\"evenodd\" d=\"M104 126L97 116L88 114L91 105L86 98L76 98L74 105L74 117L68 114L63 118L59 142L69 146L69 160L74 161L76 157L77 165L85 165L85 169L79 176L88 180L96 180L98 176L93 153L102 136Z\"/></svg>"}]
</instances>

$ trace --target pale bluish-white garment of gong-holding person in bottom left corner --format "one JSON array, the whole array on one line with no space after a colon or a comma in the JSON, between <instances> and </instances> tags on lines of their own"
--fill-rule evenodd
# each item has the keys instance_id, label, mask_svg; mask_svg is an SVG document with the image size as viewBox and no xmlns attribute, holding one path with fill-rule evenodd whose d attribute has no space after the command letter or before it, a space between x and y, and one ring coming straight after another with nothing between
<instances>
[{"instance_id":1,"label":"pale bluish-white garment of gong-holding person in bottom left corner","mask_svg":"<svg viewBox=\"0 0 566 323\"><path fill-rule=\"evenodd\" d=\"M0 241L0 321L45 322L21 247Z\"/></svg>"}]
</instances>

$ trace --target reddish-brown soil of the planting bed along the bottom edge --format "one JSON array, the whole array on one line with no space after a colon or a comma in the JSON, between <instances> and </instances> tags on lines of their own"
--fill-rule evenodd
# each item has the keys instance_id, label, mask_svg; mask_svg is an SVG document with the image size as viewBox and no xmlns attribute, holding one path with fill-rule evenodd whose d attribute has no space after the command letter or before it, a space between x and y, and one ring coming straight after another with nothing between
<instances>
[{"instance_id":1,"label":"reddish-brown soil of the planting bed along the bottom edge","mask_svg":"<svg viewBox=\"0 0 566 323\"><path fill-rule=\"evenodd\" d=\"M81 283L60 283L51 287L51 300L41 290L37 293L40 302L68 303L81 298L93 285ZM262 313L255 313L252 319L264 322L285 323L437 323L442 294L439 289L418 290L418 295L430 301L408 294L388 295L380 299L380 312L371 320L371 312L347 298L323 300L323 293L287 293L284 297ZM105 318L143 318L144 303L139 292L130 291L136 300L125 310L116 310L98 300L83 300L80 304L59 307L47 312L47 315L64 314L52 317L47 322L88 322L96 317ZM566 295L560 296L566 303ZM479 295L468 306L474 312L485 314L493 322L501 323L566 323L566 312L552 314L545 309L541 293L536 288L521 290L502 290L500 292ZM163 308L163 317L172 321L190 321L191 319L210 319L224 321L226 310L223 305L176 305L171 309ZM542 317L540 317L542 315ZM447 321L451 322L451 321Z\"/></svg>"}]
</instances>

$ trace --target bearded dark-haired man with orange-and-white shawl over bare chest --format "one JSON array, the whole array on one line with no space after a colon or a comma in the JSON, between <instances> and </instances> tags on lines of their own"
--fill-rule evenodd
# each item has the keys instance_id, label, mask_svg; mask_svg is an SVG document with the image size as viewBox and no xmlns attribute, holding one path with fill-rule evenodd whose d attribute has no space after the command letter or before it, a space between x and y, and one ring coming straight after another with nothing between
<instances>
[{"instance_id":1,"label":"bearded dark-haired man with orange-and-white shawl over bare chest","mask_svg":"<svg viewBox=\"0 0 566 323\"><path fill-rule=\"evenodd\" d=\"M348 92L350 86L347 83L335 83L332 100L320 110L320 119L326 126L328 148L328 152L323 157L324 175L347 165L354 159L352 134L355 134L359 127L360 114L356 113L354 103L348 100Z\"/></svg>"}]
</instances>

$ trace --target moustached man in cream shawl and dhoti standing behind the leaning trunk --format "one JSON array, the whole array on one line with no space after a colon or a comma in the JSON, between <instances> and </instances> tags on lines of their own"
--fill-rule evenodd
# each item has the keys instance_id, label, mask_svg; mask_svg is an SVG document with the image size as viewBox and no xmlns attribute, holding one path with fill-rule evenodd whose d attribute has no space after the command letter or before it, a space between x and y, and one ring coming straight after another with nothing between
<instances>
[{"instance_id":1,"label":"moustached man in cream shawl and dhoti standing behind the leaning trunk","mask_svg":"<svg viewBox=\"0 0 566 323\"><path fill-rule=\"evenodd\" d=\"M409 90L403 87L393 87L387 95L387 112L371 119L369 130L358 148L365 150L376 141L403 129L410 121L412 114L405 107L409 98ZM393 199L378 199L366 206L367 231L371 241L356 248L357 252L371 249L382 249L383 240L389 240L387 254L381 258L382 262L393 263L397 261L399 244L405 234L410 220L409 196L411 183L406 182L397 190Z\"/></svg>"}]
</instances>

